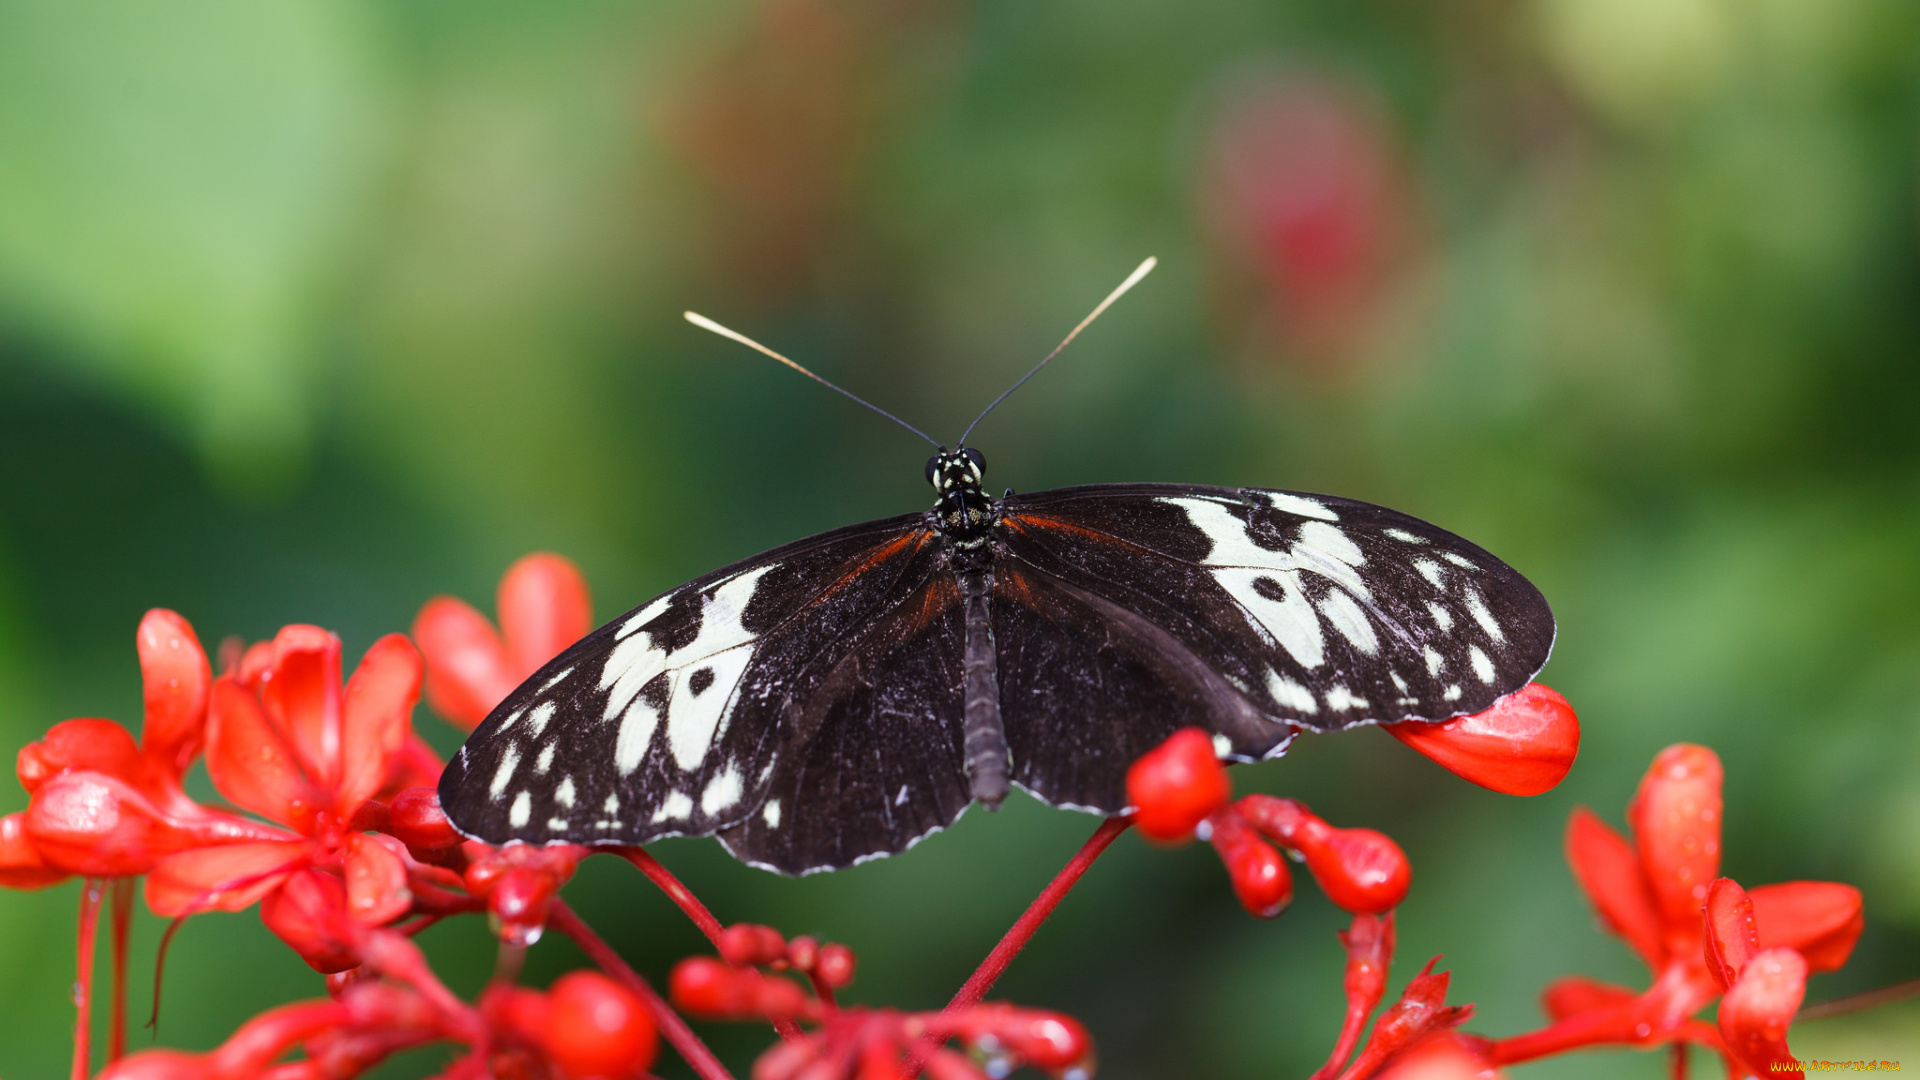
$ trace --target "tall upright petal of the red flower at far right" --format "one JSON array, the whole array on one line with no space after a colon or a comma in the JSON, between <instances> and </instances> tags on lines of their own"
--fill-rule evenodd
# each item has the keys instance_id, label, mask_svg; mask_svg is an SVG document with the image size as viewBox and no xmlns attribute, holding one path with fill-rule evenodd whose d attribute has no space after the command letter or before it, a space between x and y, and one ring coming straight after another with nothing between
<instances>
[{"instance_id":1,"label":"tall upright petal of the red flower at far right","mask_svg":"<svg viewBox=\"0 0 1920 1080\"><path fill-rule=\"evenodd\" d=\"M1663 749L1626 809L1640 867L1672 951L1699 947L1699 907L1720 876L1720 757L1705 746Z\"/></svg>"}]
</instances>

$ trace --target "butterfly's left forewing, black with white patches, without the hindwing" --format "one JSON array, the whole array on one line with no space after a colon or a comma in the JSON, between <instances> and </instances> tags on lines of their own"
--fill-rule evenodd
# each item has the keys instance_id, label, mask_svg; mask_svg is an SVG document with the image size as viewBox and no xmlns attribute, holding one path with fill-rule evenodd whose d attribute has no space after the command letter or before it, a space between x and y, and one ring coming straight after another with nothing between
<instances>
[{"instance_id":1,"label":"butterfly's left forewing, black with white patches, without the hindwing","mask_svg":"<svg viewBox=\"0 0 1920 1080\"><path fill-rule=\"evenodd\" d=\"M467 740L442 776L447 815L492 844L641 844L760 811L774 763L808 738L795 703L943 565L924 519L776 548L588 634Z\"/></svg>"}]
</instances>

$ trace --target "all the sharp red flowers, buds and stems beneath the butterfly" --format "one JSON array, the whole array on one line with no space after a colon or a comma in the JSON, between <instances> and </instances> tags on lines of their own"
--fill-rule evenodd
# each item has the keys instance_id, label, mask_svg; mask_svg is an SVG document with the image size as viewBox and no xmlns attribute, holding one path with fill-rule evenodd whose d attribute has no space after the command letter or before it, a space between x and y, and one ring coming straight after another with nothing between
<instances>
[{"instance_id":1,"label":"all the sharp red flowers, buds and stems beneath the butterfly","mask_svg":"<svg viewBox=\"0 0 1920 1080\"><path fill-rule=\"evenodd\" d=\"M294 625L269 642L223 650L228 659L215 675L192 626L156 609L136 634L140 738L111 721L75 719L19 751L29 805L0 817L0 888L84 878L75 1080L94 1076L94 938L109 896L106 1080L346 1080L428 1043L453 1047L447 1080L637 1080L660 1040L703 1080L728 1078L684 1017L772 1024L778 1042L756 1061L755 1080L987 1080L1016 1068L1085 1080L1094 1070L1085 1026L985 995L1135 824L1162 844L1212 844L1256 917L1290 903L1288 855L1354 917L1340 936L1346 1020L1313 1080L1486 1080L1511 1063L1601 1043L1707 1045L1734 1076L1797 1070L1786 1038L1807 974L1839 967L1862 926L1851 886L1749 892L1720 878L1720 763L1705 748L1674 746L1628 809L1632 842L1584 809L1567 834L1574 874L1603 924L1653 969L1647 990L1563 978L1544 995L1548 1026L1488 1040L1461 1030L1473 1007L1450 1005L1448 972L1428 963L1380 1011L1394 909L1411 884L1405 853L1380 832L1329 824L1296 799L1235 799L1212 736L1190 728L1133 765L1135 809L1100 824L945 1009L843 1005L852 949L772 926L722 926L639 847L493 847L455 832L436 794L442 763L413 732L415 701L424 690L436 711L472 728L591 625L586 582L557 555L509 569L499 615L495 628L459 600L432 600L411 640L380 638L346 676L340 640ZM1557 784L1580 744L1572 709L1544 686L1475 717L1388 730L1509 794ZM219 805L182 788L202 759ZM561 897L578 863L603 851L639 869L712 944L714 955L672 970L668 997ZM267 1009L207 1053L125 1053L127 922L138 880L148 907L175 926L205 911L257 907L280 942L326 974L326 995ZM413 942L459 915L484 915L503 944L495 978L472 1001L447 990ZM597 970L568 972L547 990L520 986L518 955L547 928L578 944ZM1715 1001L1716 1022L1701 1020Z\"/></svg>"}]
</instances>

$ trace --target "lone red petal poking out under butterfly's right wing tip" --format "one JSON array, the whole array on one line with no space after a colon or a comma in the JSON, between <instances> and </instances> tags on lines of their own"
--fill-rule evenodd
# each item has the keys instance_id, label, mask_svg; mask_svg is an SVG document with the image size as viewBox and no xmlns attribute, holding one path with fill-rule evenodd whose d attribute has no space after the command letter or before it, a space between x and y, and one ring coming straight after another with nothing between
<instances>
[{"instance_id":1,"label":"lone red petal poking out under butterfly's right wing tip","mask_svg":"<svg viewBox=\"0 0 1920 1080\"><path fill-rule=\"evenodd\" d=\"M1580 721L1572 705L1538 682L1507 694L1484 713L1384 728L1450 773L1507 796L1551 790L1580 753Z\"/></svg>"}]
</instances>

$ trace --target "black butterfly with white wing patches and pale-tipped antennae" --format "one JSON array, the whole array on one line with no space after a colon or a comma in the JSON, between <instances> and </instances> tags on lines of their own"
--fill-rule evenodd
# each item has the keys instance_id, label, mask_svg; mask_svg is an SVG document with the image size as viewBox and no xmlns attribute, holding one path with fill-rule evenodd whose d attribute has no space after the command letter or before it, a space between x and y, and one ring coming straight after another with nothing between
<instances>
[{"instance_id":1,"label":"black butterfly with white wing patches and pale-tipped antennae","mask_svg":"<svg viewBox=\"0 0 1920 1080\"><path fill-rule=\"evenodd\" d=\"M1012 786L1121 813L1127 767L1187 726L1260 761L1302 730L1478 713L1553 646L1524 577L1394 509L1198 484L993 498L966 436L935 446L931 509L703 575L547 663L447 765L453 824L718 836L755 867L831 871Z\"/></svg>"}]
</instances>

